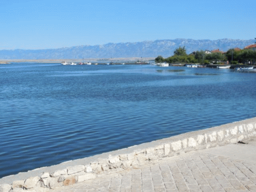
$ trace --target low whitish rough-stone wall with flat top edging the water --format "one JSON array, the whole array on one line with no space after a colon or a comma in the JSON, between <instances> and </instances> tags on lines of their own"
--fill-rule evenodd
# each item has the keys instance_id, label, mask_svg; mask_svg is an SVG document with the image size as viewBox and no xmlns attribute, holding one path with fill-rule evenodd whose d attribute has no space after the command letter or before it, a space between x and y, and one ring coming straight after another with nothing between
<instances>
[{"instance_id":1,"label":"low whitish rough-stone wall with flat top edging the water","mask_svg":"<svg viewBox=\"0 0 256 192\"><path fill-rule=\"evenodd\" d=\"M228 123L210 129L189 132L178 136L129 147L115 153L107 153L108 158L98 158L88 164L77 164L52 173L41 173L40 176L12 181L0 185L0 192L7 191L49 191L60 186L72 185L100 174L111 173L116 169L136 168L148 161L177 156L205 148L237 143L256 136L256 118ZM129 153L127 153L129 152ZM113 155L115 154L115 155Z\"/></svg>"}]
</instances>

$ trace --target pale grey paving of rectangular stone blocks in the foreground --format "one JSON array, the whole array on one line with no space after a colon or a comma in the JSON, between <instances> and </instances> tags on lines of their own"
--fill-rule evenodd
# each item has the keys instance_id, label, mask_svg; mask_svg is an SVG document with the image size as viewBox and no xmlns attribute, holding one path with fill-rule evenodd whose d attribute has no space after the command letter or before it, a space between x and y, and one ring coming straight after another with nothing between
<instances>
[{"instance_id":1,"label":"pale grey paving of rectangular stone blocks in the foreground","mask_svg":"<svg viewBox=\"0 0 256 192\"><path fill-rule=\"evenodd\" d=\"M256 157L248 163L190 152L53 191L256 192Z\"/></svg>"}]
</instances>

